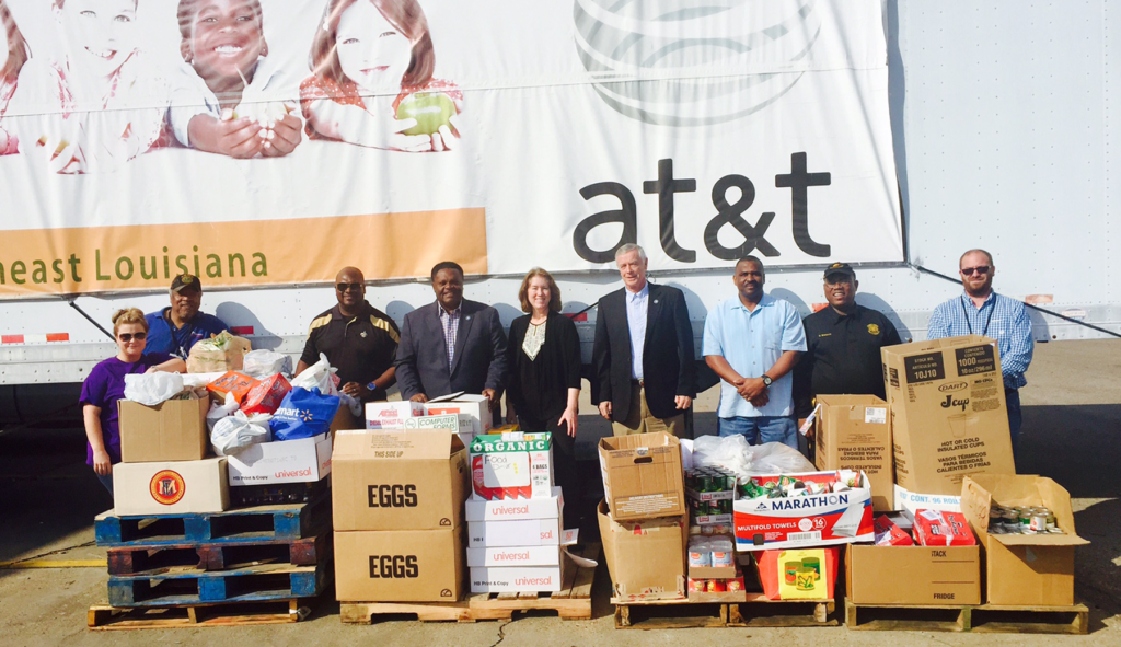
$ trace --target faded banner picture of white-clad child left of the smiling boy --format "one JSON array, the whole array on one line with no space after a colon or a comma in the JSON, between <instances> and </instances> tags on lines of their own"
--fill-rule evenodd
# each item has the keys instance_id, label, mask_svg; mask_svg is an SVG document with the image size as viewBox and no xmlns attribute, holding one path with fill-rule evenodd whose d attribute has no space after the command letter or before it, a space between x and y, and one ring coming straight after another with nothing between
<instances>
[{"instance_id":1,"label":"faded banner picture of white-clad child left of the smiling boy","mask_svg":"<svg viewBox=\"0 0 1121 647\"><path fill-rule=\"evenodd\" d=\"M137 0L53 0L52 11L65 53L19 74L9 109L36 114L17 127L21 151L57 173L115 170L156 144L167 111L167 84L139 48Z\"/></svg>"}]
</instances>

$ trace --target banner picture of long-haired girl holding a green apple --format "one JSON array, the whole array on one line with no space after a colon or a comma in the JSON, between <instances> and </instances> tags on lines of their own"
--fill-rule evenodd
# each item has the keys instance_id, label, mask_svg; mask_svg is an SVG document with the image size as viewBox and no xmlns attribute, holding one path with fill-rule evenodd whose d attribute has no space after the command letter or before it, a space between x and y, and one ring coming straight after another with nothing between
<instances>
[{"instance_id":1,"label":"banner picture of long-haired girl holding a green apple","mask_svg":"<svg viewBox=\"0 0 1121 647\"><path fill-rule=\"evenodd\" d=\"M443 151L460 137L463 93L433 77L436 54L416 0L330 0L300 107L313 138Z\"/></svg>"}]
</instances>

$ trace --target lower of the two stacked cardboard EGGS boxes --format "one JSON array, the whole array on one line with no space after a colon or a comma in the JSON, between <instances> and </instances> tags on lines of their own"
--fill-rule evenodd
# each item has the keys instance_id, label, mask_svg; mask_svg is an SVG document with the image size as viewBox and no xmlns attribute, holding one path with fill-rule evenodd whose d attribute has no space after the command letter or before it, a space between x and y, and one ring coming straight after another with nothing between
<instances>
[{"instance_id":1,"label":"lower of the two stacked cardboard EGGS boxes","mask_svg":"<svg viewBox=\"0 0 1121 647\"><path fill-rule=\"evenodd\" d=\"M463 597L464 528L335 532L342 602L454 602Z\"/></svg>"}]
</instances>

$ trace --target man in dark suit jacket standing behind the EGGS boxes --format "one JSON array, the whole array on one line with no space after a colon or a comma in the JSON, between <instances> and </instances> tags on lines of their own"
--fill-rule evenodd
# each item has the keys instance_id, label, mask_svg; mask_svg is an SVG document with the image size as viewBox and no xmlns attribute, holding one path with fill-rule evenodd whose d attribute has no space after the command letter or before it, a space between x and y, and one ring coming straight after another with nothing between
<instances>
[{"instance_id":1,"label":"man in dark suit jacket standing behind the EGGS boxes","mask_svg":"<svg viewBox=\"0 0 1121 647\"><path fill-rule=\"evenodd\" d=\"M506 380L506 333L498 311L463 298L463 268L432 268L436 303L405 315L397 345L401 397L417 403L456 391L482 394L494 408Z\"/></svg>"}]
</instances>

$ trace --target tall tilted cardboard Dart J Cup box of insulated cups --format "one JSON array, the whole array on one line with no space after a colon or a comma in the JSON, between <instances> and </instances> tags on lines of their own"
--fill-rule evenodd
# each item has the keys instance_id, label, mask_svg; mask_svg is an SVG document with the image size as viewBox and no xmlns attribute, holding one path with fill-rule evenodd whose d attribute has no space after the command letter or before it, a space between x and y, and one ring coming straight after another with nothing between
<instances>
[{"instance_id":1,"label":"tall tilted cardboard Dart J Cup box of insulated cups","mask_svg":"<svg viewBox=\"0 0 1121 647\"><path fill-rule=\"evenodd\" d=\"M883 346L896 482L958 495L967 474L1015 474L997 342L965 335Z\"/></svg>"}]
</instances>

